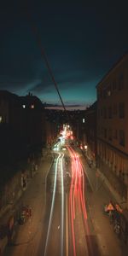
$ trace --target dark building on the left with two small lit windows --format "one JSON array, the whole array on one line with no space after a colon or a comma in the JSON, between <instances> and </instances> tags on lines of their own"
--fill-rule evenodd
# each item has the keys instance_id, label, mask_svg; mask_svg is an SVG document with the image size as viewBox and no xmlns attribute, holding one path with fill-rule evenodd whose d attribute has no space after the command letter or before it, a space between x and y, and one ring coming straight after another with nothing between
<instances>
[{"instance_id":1,"label":"dark building on the left with two small lit windows","mask_svg":"<svg viewBox=\"0 0 128 256\"><path fill-rule=\"evenodd\" d=\"M45 144L44 105L37 96L19 96L20 120L18 130L30 152L41 150Z\"/></svg>"}]
</instances>

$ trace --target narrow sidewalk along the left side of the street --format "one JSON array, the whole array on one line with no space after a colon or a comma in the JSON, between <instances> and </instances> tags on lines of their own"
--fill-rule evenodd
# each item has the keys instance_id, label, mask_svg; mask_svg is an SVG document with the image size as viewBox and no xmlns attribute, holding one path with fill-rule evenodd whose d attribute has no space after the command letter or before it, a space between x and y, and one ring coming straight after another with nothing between
<instances>
[{"instance_id":1,"label":"narrow sidewalk along the left side of the street","mask_svg":"<svg viewBox=\"0 0 128 256\"><path fill-rule=\"evenodd\" d=\"M9 219L9 217L15 216L15 210L19 209L21 204L27 204L29 206L32 207L32 201L33 201L33 195L34 191L36 191L35 189L35 185L38 182L38 179L41 180L42 184L45 184L45 177L47 175L47 173L49 172L49 168L52 165L53 162L53 158L52 155L48 154L44 157L44 159L41 161L40 166L38 166L38 172L35 172L34 177L32 177L29 180L29 183L27 184L27 188L25 191L22 191L22 194L20 195L20 198L15 198L15 204L12 205L11 210L9 209L9 212L6 212L5 215L3 215L2 218L0 218L0 224L4 224L7 223L7 220ZM17 211L17 210L16 210ZM34 208L32 207L32 212L34 212ZM15 224L14 224L14 231L13 231L13 237L15 236L15 230L19 229L20 226L17 223L17 219L15 220ZM3 253L5 247L8 244L8 237L5 236L3 239L0 239L0 249L1 252Z\"/></svg>"}]
</instances>

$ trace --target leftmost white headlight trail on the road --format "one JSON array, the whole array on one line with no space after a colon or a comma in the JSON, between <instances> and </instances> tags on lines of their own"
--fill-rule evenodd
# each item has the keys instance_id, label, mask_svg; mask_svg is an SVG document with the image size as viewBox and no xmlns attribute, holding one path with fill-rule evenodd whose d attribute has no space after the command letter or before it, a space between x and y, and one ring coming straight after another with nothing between
<instances>
[{"instance_id":1,"label":"leftmost white headlight trail on the road","mask_svg":"<svg viewBox=\"0 0 128 256\"><path fill-rule=\"evenodd\" d=\"M55 190L56 190L56 180L57 180L57 169L58 169L58 161L61 157L61 154L58 155L56 163L55 163L55 182L54 182L54 190L53 190L53 196L52 196L52 203L50 208L50 214L49 214L49 226L48 226L48 232L46 236L46 242L45 242L45 248L44 248L44 256L47 255L47 248L48 248L48 242L49 242L49 231L50 226L52 222L53 212L54 212L54 205L55 205Z\"/></svg>"}]
</instances>

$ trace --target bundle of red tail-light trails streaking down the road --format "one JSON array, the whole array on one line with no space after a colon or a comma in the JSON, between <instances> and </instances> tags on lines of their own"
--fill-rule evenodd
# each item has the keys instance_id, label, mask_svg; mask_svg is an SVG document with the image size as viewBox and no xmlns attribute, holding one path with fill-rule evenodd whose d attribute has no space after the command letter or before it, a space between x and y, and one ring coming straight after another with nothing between
<instances>
[{"instance_id":1,"label":"bundle of red tail-light trails streaking down the road","mask_svg":"<svg viewBox=\"0 0 128 256\"><path fill-rule=\"evenodd\" d=\"M76 242L75 242L75 232L74 232L74 219L76 216L76 202L79 202L79 212L81 212L84 216L84 224L87 230L87 234L89 234L87 220L87 212L85 207L85 199L84 199L84 169L79 160L79 156L75 153L73 148L67 147L71 159L72 159L72 180L70 186L69 193L69 217L71 220L71 229L72 229L72 237L73 237L73 256L76 256Z\"/></svg>"}]
</instances>

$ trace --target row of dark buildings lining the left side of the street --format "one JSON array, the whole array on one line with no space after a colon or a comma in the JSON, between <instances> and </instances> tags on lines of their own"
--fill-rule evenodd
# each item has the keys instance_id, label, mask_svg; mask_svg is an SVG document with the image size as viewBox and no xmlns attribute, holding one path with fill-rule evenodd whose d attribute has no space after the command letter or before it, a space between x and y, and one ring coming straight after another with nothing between
<instances>
[{"instance_id":1,"label":"row of dark buildings lining the left side of the street","mask_svg":"<svg viewBox=\"0 0 128 256\"><path fill-rule=\"evenodd\" d=\"M0 187L53 143L58 127L48 113L31 93L17 96L0 90Z\"/></svg>"}]
</instances>

